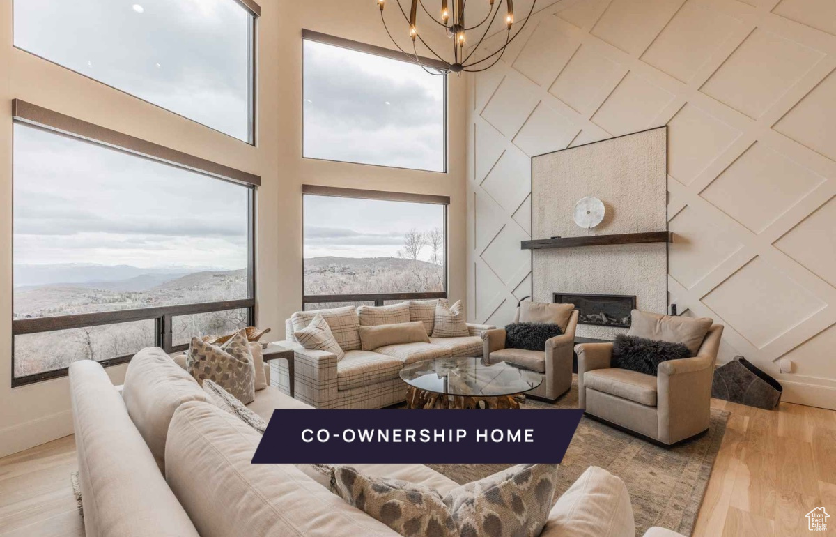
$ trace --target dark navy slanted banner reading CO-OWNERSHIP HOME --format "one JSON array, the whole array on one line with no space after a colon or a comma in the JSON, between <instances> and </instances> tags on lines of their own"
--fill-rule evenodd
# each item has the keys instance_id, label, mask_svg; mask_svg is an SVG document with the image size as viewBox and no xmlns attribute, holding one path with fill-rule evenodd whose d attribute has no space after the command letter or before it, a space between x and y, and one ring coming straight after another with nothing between
<instances>
[{"instance_id":1,"label":"dark navy slanted banner reading CO-OWNERSHIP HOME","mask_svg":"<svg viewBox=\"0 0 836 537\"><path fill-rule=\"evenodd\" d=\"M276 410L252 463L560 463L582 410Z\"/></svg>"}]
</instances>

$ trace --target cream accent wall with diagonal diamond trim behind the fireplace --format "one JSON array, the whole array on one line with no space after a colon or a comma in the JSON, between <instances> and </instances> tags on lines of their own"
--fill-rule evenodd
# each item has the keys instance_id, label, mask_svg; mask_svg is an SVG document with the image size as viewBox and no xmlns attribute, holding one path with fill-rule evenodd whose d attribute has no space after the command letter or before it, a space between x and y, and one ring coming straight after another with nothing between
<instances>
[{"instance_id":1,"label":"cream accent wall with diagonal diamond trim behind the fireplace","mask_svg":"<svg viewBox=\"0 0 836 537\"><path fill-rule=\"evenodd\" d=\"M474 320L504 325L531 294L529 157L666 124L672 302L726 325L721 361L836 408L836 3L548 4L471 79Z\"/></svg>"}]
</instances>

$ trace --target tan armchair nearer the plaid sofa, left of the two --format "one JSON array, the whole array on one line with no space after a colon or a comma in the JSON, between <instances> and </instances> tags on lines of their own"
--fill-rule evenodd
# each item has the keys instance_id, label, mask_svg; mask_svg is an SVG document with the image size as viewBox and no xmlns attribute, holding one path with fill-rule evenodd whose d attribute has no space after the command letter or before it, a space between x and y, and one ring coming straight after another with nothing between
<instances>
[{"instance_id":1,"label":"tan armchair nearer the plaid sofa, left of the two","mask_svg":"<svg viewBox=\"0 0 836 537\"><path fill-rule=\"evenodd\" d=\"M482 340L485 341L483 355L492 363L505 361L542 373L543 383L526 393L553 401L572 387L572 349L575 329L578 327L578 315L578 310L573 310L566 330L562 335L546 340L544 350L506 349L505 329L487 330L482 335Z\"/></svg>"}]
</instances>

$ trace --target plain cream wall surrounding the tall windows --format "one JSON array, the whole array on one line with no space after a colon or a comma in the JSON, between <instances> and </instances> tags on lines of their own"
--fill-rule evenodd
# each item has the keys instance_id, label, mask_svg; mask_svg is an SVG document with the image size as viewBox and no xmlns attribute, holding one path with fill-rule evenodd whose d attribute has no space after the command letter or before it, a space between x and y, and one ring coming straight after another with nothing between
<instances>
[{"instance_id":1,"label":"plain cream wall surrounding the tall windows","mask_svg":"<svg viewBox=\"0 0 836 537\"><path fill-rule=\"evenodd\" d=\"M230 0L232 1L232 0ZM449 287L465 293L465 84L451 77L449 172L396 170L302 158L302 28L391 47L369 0L261 0L258 21L258 136L247 146L12 46L12 2L0 3L0 456L72 432L67 379L11 388L12 120L20 98L262 176L257 195L258 325L281 339L301 309L301 185L370 188L451 197ZM45 350L48 351L48 350ZM120 383L125 366L110 368Z\"/></svg>"}]
</instances>

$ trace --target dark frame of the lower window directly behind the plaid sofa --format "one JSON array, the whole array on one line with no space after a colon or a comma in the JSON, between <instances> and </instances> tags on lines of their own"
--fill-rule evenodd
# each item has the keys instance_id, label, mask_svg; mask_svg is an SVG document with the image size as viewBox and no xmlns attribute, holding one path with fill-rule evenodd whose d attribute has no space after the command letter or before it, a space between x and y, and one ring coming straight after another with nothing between
<instances>
[{"instance_id":1,"label":"dark frame of the lower window directly behind the plaid sofa","mask_svg":"<svg viewBox=\"0 0 836 537\"><path fill-rule=\"evenodd\" d=\"M320 185L302 185L302 243L305 240L304 200L305 196L349 197L354 199L380 200L384 202L408 202L441 205L444 207L442 233L444 233L444 290L421 293L361 293L361 294L305 294L305 259L302 257L302 309L307 304L328 304L340 302L374 302L375 306L384 305L387 300L426 300L448 298L449 263L447 246L447 220L450 212L450 197L433 194L414 194L410 192L386 192L364 190L360 188L323 187Z\"/></svg>"}]
</instances>

